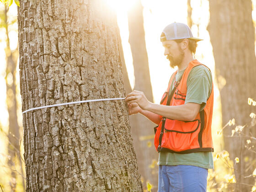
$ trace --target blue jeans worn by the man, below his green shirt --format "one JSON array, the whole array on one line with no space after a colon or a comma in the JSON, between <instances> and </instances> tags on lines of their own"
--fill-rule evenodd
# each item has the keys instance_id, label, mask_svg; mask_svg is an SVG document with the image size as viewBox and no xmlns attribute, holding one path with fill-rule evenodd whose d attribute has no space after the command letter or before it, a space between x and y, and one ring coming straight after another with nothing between
<instances>
[{"instance_id":1,"label":"blue jeans worn by the man, below his green shirt","mask_svg":"<svg viewBox=\"0 0 256 192\"><path fill-rule=\"evenodd\" d=\"M158 192L206 192L208 169L192 165L159 165Z\"/></svg>"}]
</instances>

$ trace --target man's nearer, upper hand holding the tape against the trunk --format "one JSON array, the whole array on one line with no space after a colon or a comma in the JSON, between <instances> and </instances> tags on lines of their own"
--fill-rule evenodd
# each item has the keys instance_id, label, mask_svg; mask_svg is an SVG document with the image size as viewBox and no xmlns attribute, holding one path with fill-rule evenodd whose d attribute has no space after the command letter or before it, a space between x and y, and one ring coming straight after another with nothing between
<instances>
[{"instance_id":1,"label":"man's nearer, upper hand holding the tape against the trunk","mask_svg":"<svg viewBox=\"0 0 256 192\"><path fill-rule=\"evenodd\" d=\"M151 104L151 102L147 100L143 92L136 90L129 93L124 101L126 101L128 104L137 103L139 107L143 110L147 110Z\"/></svg>"}]
</instances>

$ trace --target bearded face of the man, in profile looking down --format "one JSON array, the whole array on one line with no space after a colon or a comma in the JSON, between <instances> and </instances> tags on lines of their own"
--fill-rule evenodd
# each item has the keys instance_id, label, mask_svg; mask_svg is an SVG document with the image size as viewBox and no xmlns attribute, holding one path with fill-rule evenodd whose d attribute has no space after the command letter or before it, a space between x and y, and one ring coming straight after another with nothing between
<instances>
[{"instance_id":1,"label":"bearded face of the man, in profile looking down","mask_svg":"<svg viewBox=\"0 0 256 192\"><path fill-rule=\"evenodd\" d=\"M182 50L180 43L174 40L167 40L163 42L165 48L166 58L170 61L171 68L179 66L184 58L184 50Z\"/></svg>"}]
</instances>

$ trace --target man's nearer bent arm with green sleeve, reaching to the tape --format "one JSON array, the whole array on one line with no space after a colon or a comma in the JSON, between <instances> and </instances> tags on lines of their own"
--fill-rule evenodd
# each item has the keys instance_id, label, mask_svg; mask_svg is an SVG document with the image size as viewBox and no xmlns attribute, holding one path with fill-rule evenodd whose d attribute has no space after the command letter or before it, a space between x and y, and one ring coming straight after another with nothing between
<instances>
[{"instance_id":1,"label":"man's nearer bent arm with green sleeve, reaching to the tape","mask_svg":"<svg viewBox=\"0 0 256 192\"><path fill-rule=\"evenodd\" d=\"M143 92L140 91L131 92L126 96L125 101L127 101L128 103L136 102L139 104L137 104L138 107L141 107L148 112L153 112L163 117L182 121L192 121L197 116L199 110L202 111L203 107L205 107L211 91L211 72L203 65L198 65L191 70L188 76L187 97L184 105L164 106L153 104L150 103L144 96Z\"/></svg>"}]
</instances>

